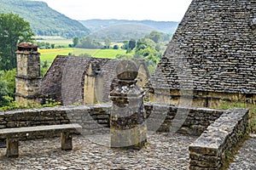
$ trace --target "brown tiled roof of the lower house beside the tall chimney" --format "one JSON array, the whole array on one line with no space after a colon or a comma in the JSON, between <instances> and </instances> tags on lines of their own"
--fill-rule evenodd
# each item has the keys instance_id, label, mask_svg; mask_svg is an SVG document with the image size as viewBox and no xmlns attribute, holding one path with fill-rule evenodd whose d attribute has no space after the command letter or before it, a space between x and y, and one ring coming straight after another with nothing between
<instances>
[{"instance_id":1,"label":"brown tiled roof of the lower house beside the tall chimney","mask_svg":"<svg viewBox=\"0 0 256 170\"><path fill-rule=\"evenodd\" d=\"M82 104L84 75L88 74L91 65L93 75L90 76L103 77L100 82L103 83L102 102L108 102L108 95L116 84L115 69L118 63L119 59L58 55L43 78L41 94L45 98L61 101L63 105ZM144 65L143 60L137 60L136 65L138 68Z\"/></svg>"}]
</instances>

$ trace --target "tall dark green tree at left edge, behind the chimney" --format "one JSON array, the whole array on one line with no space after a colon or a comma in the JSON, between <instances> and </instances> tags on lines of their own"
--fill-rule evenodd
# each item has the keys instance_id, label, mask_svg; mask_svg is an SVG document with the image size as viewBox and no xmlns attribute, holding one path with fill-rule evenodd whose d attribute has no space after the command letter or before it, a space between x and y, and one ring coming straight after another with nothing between
<instances>
[{"instance_id":1,"label":"tall dark green tree at left edge, behind the chimney","mask_svg":"<svg viewBox=\"0 0 256 170\"><path fill-rule=\"evenodd\" d=\"M29 22L19 14L0 14L0 70L16 68L17 44L32 42L33 36Z\"/></svg>"}]
</instances>

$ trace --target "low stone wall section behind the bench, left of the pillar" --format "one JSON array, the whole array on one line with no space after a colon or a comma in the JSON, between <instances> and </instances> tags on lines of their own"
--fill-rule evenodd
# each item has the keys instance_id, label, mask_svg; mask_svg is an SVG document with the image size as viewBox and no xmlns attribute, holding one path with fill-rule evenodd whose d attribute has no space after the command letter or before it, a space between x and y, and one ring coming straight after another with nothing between
<instances>
[{"instance_id":1,"label":"low stone wall section behind the bench, left of the pillar","mask_svg":"<svg viewBox=\"0 0 256 170\"><path fill-rule=\"evenodd\" d=\"M102 133L109 129L110 108L111 105L104 104L5 111L0 112L0 128L77 122L84 129L82 133Z\"/></svg>"}]
</instances>

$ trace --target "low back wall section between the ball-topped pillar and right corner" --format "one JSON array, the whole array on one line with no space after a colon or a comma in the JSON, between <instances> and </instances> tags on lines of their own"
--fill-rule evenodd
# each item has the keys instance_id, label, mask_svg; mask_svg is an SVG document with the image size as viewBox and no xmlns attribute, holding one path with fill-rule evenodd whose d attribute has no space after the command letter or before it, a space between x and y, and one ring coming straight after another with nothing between
<instances>
[{"instance_id":1,"label":"low back wall section between the ball-topped pillar and right corner","mask_svg":"<svg viewBox=\"0 0 256 170\"><path fill-rule=\"evenodd\" d=\"M145 103L148 130L176 132L199 136L224 111Z\"/></svg>"}]
</instances>

